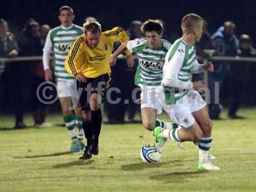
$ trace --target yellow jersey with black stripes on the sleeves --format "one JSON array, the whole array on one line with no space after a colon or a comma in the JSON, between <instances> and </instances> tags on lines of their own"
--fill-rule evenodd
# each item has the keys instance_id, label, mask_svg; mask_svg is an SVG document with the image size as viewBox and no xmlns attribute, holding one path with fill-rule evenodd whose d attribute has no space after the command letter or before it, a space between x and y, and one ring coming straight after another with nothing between
<instances>
[{"instance_id":1,"label":"yellow jersey with black stripes on the sleeves","mask_svg":"<svg viewBox=\"0 0 256 192\"><path fill-rule=\"evenodd\" d=\"M129 36L127 36L124 29L116 27L102 32L99 45L90 49L86 44L86 35L83 34L77 38L68 51L65 69L73 76L82 72L84 76L89 78L109 74L111 73L109 58L113 52L114 42L127 42L128 40ZM131 52L125 52L125 54L129 55Z\"/></svg>"}]
</instances>

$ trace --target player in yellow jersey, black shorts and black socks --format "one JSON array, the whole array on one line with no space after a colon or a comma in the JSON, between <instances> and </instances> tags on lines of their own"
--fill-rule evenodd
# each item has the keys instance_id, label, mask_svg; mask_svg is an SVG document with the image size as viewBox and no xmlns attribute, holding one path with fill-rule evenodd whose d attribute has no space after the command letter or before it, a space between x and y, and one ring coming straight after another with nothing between
<instances>
[{"instance_id":1,"label":"player in yellow jersey, black shorts and black socks","mask_svg":"<svg viewBox=\"0 0 256 192\"><path fill-rule=\"evenodd\" d=\"M68 73L77 79L83 115L83 129L87 147L81 159L90 159L99 153L99 134L102 124L100 105L110 80L109 58L116 41L127 42L129 36L122 28L102 32L99 22L84 23L84 34L77 38L65 60ZM132 67L131 52L125 52L127 63Z\"/></svg>"}]
</instances>

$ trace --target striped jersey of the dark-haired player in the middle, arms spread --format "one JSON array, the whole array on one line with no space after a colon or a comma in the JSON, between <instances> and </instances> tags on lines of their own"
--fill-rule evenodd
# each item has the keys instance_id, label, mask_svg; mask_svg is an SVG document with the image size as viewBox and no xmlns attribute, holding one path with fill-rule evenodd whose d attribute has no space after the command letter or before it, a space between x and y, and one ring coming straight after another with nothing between
<instances>
[{"instance_id":1,"label":"striped jersey of the dark-haired player in the middle, arms spread","mask_svg":"<svg viewBox=\"0 0 256 192\"><path fill-rule=\"evenodd\" d=\"M138 67L134 82L138 86L159 86L163 79L163 65L166 52L171 44L161 40L161 47L151 49L148 47L147 38L136 38L127 43L127 49L138 56Z\"/></svg>"}]
</instances>

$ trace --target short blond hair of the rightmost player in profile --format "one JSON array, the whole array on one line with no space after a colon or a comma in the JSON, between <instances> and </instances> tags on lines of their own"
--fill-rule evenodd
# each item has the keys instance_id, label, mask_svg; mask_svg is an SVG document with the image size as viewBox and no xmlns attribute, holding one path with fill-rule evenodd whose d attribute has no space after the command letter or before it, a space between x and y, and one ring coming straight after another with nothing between
<instances>
[{"instance_id":1,"label":"short blond hair of the rightmost player in profile","mask_svg":"<svg viewBox=\"0 0 256 192\"><path fill-rule=\"evenodd\" d=\"M181 21L181 29L183 33L191 33L203 19L195 13L185 15Z\"/></svg>"}]
</instances>

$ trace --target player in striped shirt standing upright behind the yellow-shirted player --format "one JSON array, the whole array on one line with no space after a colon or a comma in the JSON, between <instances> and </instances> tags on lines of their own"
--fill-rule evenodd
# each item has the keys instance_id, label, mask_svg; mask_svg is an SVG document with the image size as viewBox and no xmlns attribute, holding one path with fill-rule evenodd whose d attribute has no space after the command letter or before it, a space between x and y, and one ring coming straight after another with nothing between
<instances>
[{"instance_id":1,"label":"player in striped shirt standing upright behind the yellow-shirted player","mask_svg":"<svg viewBox=\"0 0 256 192\"><path fill-rule=\"evenodd\" d=\"M57 83L57 93L60 99L62 114L65 125L70 132L72 144L70 150L77 152L83 150L84 131L82 127L81 109L79 106L74 109L75 114L70 108L72 102L76 104L78 100L76 79L68 74L64 64L68 51L72 43L78 36L83 34L83 28L72 24L74 13L69 6L61 6L59 16L61 26L49 31L44 47L43 63L45 70L45 81L51 81L52 72L50 70L51 51L54 51L54 74ZM78 127L79 134L77 136L75 127Z\"/></svg>"}]
</instances>

